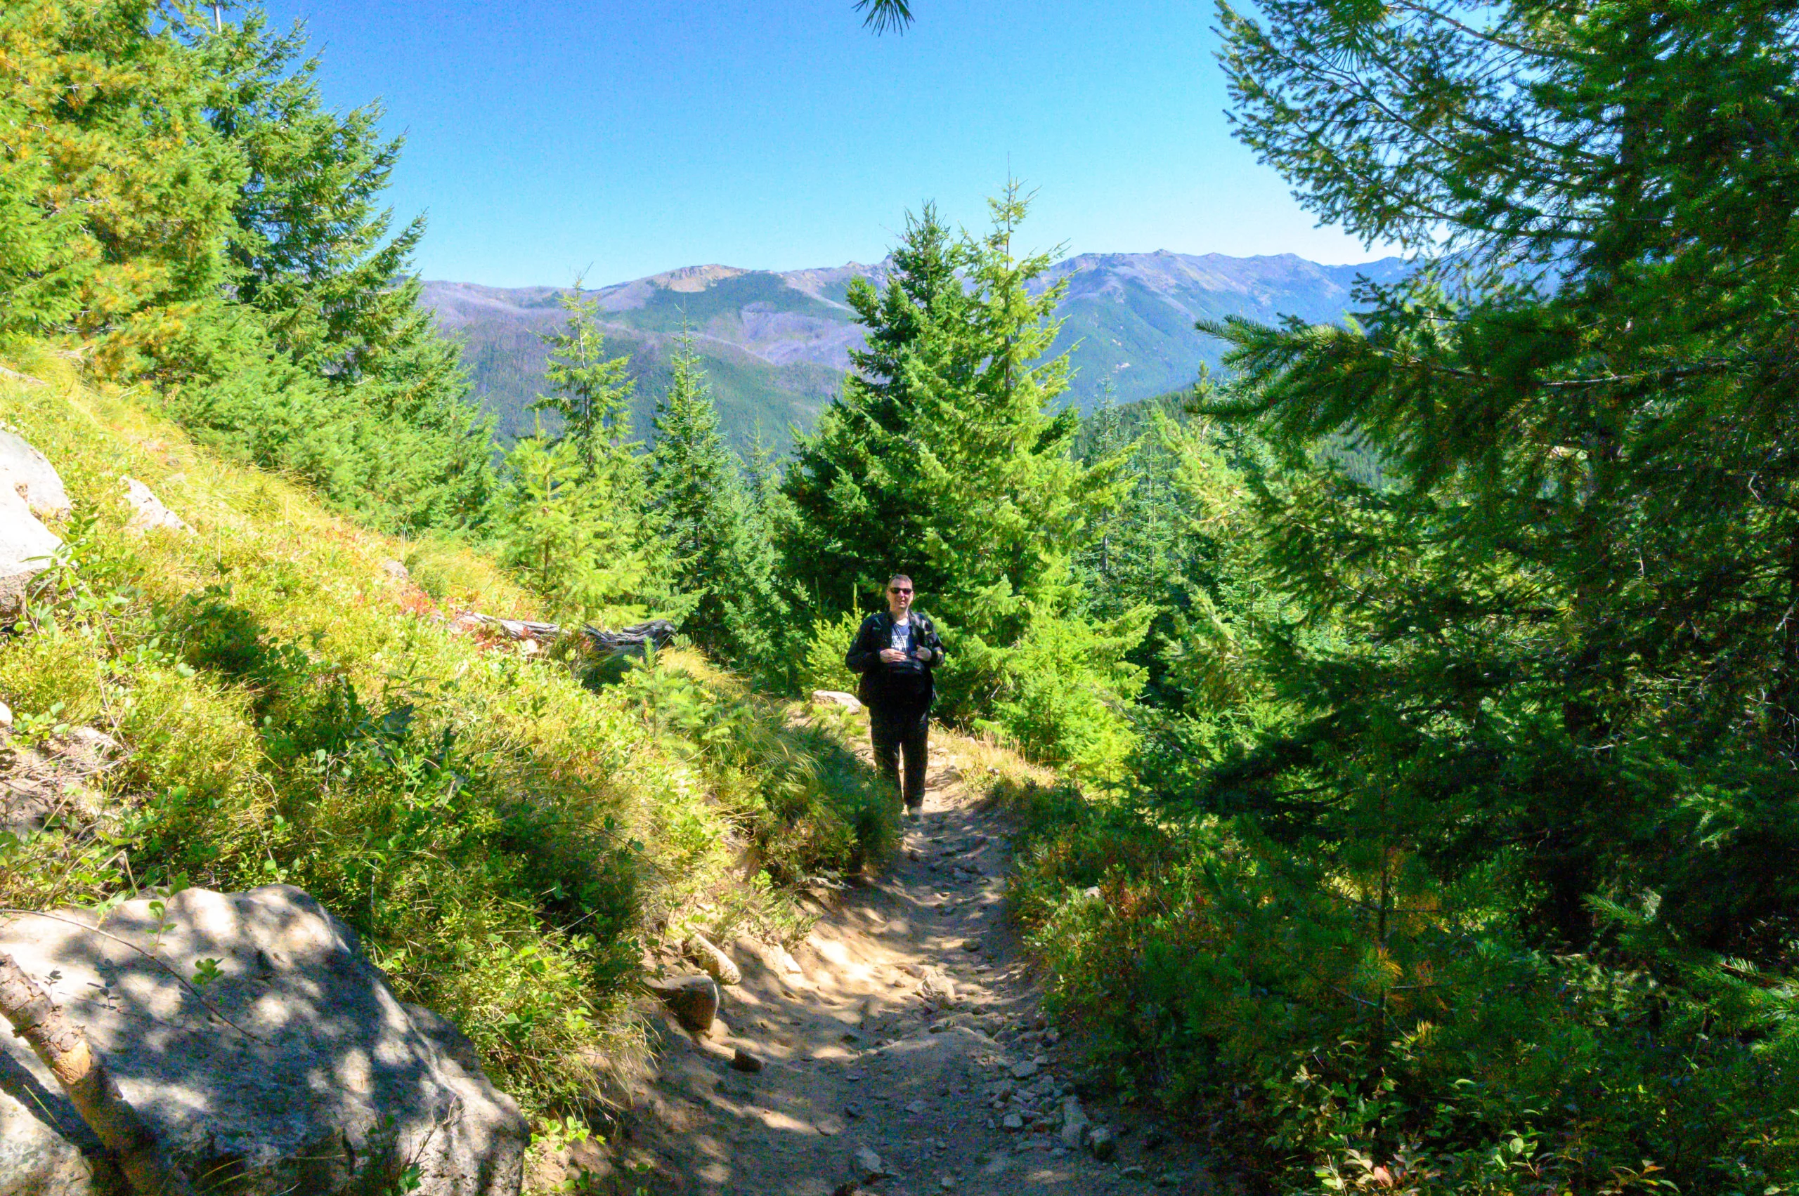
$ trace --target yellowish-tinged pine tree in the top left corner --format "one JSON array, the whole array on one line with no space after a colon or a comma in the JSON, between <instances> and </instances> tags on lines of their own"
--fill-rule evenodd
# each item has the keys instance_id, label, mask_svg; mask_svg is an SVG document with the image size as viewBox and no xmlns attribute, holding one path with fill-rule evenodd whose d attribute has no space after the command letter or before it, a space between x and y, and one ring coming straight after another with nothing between
<instances>
[{"instance_id":1,"label":"yellowish-tinged pine tree in the top left corner","mask_svg":"<svg viewBox=\"0 0 1799 1196\"><path fill-rule=\"evenodd\" d=\"M243 164L205 120L205 68L183 29L153 0L0 11L0 324L67 322L119 376L158 370L223 300Z\"/></svg>"}]
</instances>

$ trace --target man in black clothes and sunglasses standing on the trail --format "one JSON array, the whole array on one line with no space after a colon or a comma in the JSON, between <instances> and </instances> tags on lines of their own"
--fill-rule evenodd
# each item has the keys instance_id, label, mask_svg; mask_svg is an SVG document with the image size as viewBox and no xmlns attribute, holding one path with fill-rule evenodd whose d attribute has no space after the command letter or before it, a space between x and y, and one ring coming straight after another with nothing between
<instances>
[{"instance_id":1,"label":"man in black clothes and sunglasses standing on the trail","mask_svg":"<svg viewBox=\"0 0 1799 1196\"><path fill-rule=\"evenodd\" d=\"M844 664L860 673L856 696L869 707L874 766L900 790L908 817L925 808L925 736L937 696L930 671L943 664L943 640L930 619L912 610L912 579L887 579L887 610L869 615ZM905 755L905 784L900 757Z\"/></svg>"}]
</instances>

